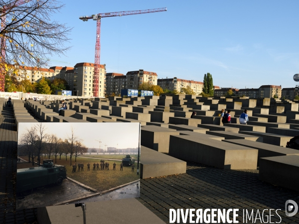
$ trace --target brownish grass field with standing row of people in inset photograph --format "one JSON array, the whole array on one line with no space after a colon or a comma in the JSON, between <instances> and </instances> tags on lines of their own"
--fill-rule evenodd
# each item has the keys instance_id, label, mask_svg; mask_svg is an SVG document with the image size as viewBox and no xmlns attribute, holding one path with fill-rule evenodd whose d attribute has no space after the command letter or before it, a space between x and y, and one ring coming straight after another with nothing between
<instances>
[{"instance_id":1,"label":"brownish grass field with standing row of people in inset photograph","mask_svg":"<svg viewBox=\"0 0 299 224\"><path fill-rule=\"evenodd\" d=\"M20 157L28 160L27 157ZM52 158L51 158L52 159ZM54 158L53 158L54 160ZM36 161L36 160L35 160ZM107 160L108 161L108 160ZM83 183L89 187L97 189L99 191L105 191L126 183L140 179L140 175L137 175L137 164L135 165L135 172L132 172L132 168L128 166L123 167L123 171L120 171L121 161L109 160L109 170L92 170L93 164L100 161L98 159L88 159L77 157L77 164L84 164L84 171L76 172L72 174L73 167L70 166L69 157L67 161L65 157L61 157L61 160L57 159L57 165L64 165L67 169L67 177L70 177L80 183ZM116 163L116 170L113 170L113 163ZM72 158L72 164L75 163L75 157ZM87 171L87 164L90 163L90 171ZM55 160L54 160L55 164ZM32 163L18 163L17 169L32 167ZM96 168L97 169L97 168Z\"/></svg>"}]
</instances>

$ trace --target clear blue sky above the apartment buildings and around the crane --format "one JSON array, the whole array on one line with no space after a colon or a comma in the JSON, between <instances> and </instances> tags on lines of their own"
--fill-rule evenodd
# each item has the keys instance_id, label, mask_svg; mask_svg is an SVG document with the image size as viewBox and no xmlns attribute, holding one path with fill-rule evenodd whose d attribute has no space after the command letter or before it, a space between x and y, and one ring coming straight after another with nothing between
<instances>
[{"instance_id":1,"label":"clear blue sky above the apartment buildings and around the crane","mask_svg":"<svg viewBox=\"0 0 299 224\"><path fill-rule=\"evenodd\" d=\"M158 78L258 88L295 87L299 73L298 0L64 0L54 18L73 27L72 49L51 65L94 62L96 21L80 15L167 7L166 12L102 18L101 64L107 72L144 69Z\"/></svg>"}]
</instances>

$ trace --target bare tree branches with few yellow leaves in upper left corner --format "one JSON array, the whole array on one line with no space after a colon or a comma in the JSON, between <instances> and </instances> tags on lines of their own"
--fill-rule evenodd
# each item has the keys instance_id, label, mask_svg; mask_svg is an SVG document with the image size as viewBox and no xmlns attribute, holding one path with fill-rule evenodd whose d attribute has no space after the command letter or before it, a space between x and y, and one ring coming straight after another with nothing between
<instances>
[{"instance_id":1,"label":"bare tree branches with few yellow leaves in upper left corner","mask_svg":"<svg viewBox=\"0 0 299 224\"><path fill-rule=\"evenodd\" d=\"M71 28L52 18L63 6L56 0L0 0L4 63L40 67L49 56L64 55Z\"/></svg>"}]
</instances>

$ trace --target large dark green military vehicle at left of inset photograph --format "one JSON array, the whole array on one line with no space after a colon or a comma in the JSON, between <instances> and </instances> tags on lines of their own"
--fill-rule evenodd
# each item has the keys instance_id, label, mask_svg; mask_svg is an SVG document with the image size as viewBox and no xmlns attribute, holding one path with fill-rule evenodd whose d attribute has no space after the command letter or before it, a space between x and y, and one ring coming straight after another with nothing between
<instances>
[{"instance_id":1,"label":"large dark green military vehicle at left of inset photograph","mask_svg":"<svg viewBox=\"0 0 299 224\"><path fill-rule=\"evenodd\" d=\"M66 167L53 165L53 159L43 160L43 165L16 170L16 193L31 194L33 188L48 184L61 185L66 179Z\"/></svg>"}]
</instances>

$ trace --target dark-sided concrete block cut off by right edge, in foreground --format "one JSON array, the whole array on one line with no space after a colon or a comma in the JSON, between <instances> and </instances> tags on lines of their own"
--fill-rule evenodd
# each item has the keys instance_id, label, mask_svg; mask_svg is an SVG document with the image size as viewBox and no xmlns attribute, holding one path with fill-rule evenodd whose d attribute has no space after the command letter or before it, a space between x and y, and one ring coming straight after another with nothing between
<instances>
[{"instance_id":1,"label":"dark-sided concrete block cut off by right edge, in foreground","mask_svg":"<svg viewBox=\"0 0 299 224\"><path fill-rule=\"evenodd\" d=\"M299 191L299 155L260 159L260 180Z\"/></svg>"}]
</instances>

